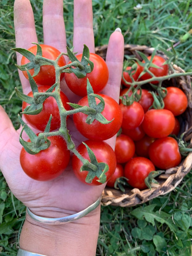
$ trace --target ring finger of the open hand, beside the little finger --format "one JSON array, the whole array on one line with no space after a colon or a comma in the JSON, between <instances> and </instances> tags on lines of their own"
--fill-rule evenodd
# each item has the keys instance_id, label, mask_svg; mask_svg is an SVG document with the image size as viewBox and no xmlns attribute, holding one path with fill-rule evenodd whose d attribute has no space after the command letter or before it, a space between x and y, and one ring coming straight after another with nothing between
<instances>
[{"instance_id":1,"label":"ring finger of the open hand, beside the little finger","mask_svg":"<svg viewBox=\"0 0 192 256\"><path fill-rule=\"evenodd\" d=\"M95 52L93 32L92 0L74 0L74 51L82 53L83 44L86 44L90 52Z\"/></svg>"}]
</instances>

